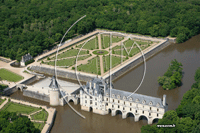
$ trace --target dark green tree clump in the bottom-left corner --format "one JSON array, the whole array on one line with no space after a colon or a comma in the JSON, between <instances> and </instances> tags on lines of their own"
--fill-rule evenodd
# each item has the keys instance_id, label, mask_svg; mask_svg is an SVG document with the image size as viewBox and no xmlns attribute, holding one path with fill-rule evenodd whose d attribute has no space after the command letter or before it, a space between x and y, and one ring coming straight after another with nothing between
<instances>
[{"instance_id":1,"label":"dark green tree clump in the bottom-left corner","mask_svg":"<svg viewBox=\"0 0 200 133\"><path fill-rule=\"evenodd\" d=\"M26 116L14 112L0 111L1 133L40 133Z\"/></svg>"}]
</instances>

